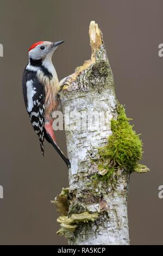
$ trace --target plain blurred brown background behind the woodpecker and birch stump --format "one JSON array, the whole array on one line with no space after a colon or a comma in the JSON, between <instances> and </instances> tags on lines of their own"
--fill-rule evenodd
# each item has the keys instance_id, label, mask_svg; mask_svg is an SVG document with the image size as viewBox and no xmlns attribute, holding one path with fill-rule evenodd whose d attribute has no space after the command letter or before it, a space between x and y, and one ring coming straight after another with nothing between
<instances>
[{"instance_id":1,"label":"plain blurred brown background behind the woodpecker and birch stump","mask_svg":"<svg viewBox=\"0 0 163 256\"><path fill-rule=\"evenodd\" d=\"M163 43L161 0L0 1L1 245L64 245L56 234L57 211L50 203L68 186L65 163L46 143L43 158L22 97L27 50L36 41L65 40L54 54L59 78L90 58L91 20L101 27L116 83L116 95L142 133L148 174L132 174L128 201L131 245L162 244ZM64 151L64 132L57 133Z\"/></svg>"}]
</instances>

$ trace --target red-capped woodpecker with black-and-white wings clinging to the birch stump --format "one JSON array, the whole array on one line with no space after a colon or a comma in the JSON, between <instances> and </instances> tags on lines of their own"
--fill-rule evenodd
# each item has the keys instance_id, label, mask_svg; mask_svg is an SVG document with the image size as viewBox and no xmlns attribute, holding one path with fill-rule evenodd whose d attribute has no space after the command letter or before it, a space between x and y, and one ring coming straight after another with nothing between
<instances>
[{"instance_id":1,"label":"red-capped woodpecker with black-and-white wings clinging to the birch stump","mask_svg":"<svg viewBox=\"0 0 163 256\"><path fill-rule=\"evenodd\" d=\"M22 87L26 109L32 126L39 136L43 156L45 138L57 150L67 167L70 167L70 161L56 143L52 128L52 113L57 111L57 93L60 89L52 56L62 42L64 41L39 41L29 48L29 61L23 72Z\"/></svg>"}]
</instances>

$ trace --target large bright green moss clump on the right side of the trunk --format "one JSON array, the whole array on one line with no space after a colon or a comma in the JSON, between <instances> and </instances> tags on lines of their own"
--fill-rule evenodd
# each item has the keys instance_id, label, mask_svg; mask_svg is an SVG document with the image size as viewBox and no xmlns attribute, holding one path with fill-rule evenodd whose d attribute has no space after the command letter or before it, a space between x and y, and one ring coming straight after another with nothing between
<instances>
[{"instance_id":1,"label":"large bright green moss clump on the right side of the trunk","mask_svg":"<svg viewBox=\"0 0 163 256\"><path fill-rule=\"evenodd\" d=\"M120 103L116 107L117 119L111 120L112 135L105 147L98 149L99 159L95 160L101 178L107 180L115 176L118 169L131 173L142 157L142 141L129 123L126 111ZM99 175L99 176L101 176Z\"/></svg>"}]
</instances>

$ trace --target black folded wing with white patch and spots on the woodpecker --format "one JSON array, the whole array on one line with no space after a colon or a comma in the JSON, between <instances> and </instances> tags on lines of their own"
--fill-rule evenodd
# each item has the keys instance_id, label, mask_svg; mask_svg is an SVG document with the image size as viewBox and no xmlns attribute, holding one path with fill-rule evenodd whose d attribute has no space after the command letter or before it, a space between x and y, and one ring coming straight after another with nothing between
<instances>
[{"instance_id":1,"label":"black folded wing with white patch and spots on the woodpecker","mask_svg":"<svg viewBox=\"0 0 163 256\"><path fill-rule=\"evenodd\" d=\"M24 71L23 96L32 126L39 136L42 154L44 155L44 121L45 89L37 80L35 72Z\"/></svg>"}]
</instances>

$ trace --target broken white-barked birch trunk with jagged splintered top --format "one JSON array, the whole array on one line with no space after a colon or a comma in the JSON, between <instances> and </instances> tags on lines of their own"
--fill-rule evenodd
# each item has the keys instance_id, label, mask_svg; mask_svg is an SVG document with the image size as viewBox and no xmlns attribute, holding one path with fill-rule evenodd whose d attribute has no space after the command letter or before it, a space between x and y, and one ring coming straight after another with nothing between
<instances>
[{"instance_id":1,"label":"broken white-barked birch trunk with jagged splintered top","mask_svg":"<svg viewBox=\"0 0 163 256\"><path fill-rule=\"evenodd\" d=\"M79 222L68 236L68 242L70 245L129 245L129 174L120 170L114 187L101 180L93 182L93 174L99 173L93 159L98 157L98 148L108 142L110 121L117 113L114 78L102 33L95 22L91 22L89 34L91 60L61 81L60 101L71 162L68 216L88 212L97 213L98 218ZM91 113L95 113L95 120L90 127ZM100 113L106 117L103 119Z\"/></svg>"}]
</instances>

